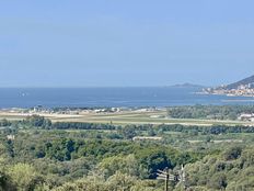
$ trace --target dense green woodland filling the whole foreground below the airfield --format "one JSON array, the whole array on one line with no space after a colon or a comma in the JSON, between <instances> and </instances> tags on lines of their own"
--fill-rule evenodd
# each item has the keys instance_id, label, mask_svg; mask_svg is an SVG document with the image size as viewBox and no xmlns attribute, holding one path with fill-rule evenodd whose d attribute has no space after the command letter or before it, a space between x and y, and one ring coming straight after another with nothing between
<instances>
[{"instance_id":1,"label":"dense green woodland filling the whole foreground below the airfield","mask_svg":"<svg viewBox=\"0 0 254 191\"><path fill-rule=\"evenodd\" d=\"M181 165L189 190L254 188L252 126L115 126L37 115L0 124L0 190L161 191L157 171L176 175ZM170 187L184 190L177 181Z\"/></svg>"}]
</instances>

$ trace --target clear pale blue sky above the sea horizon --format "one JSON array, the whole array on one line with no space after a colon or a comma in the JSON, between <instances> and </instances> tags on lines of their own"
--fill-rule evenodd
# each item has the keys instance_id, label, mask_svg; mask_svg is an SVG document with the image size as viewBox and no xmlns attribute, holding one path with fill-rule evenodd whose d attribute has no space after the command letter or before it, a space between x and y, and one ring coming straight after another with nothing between
<instances>
[{"instance_id":1,"label":"clear pale blue sky above the sea horizon","mask_svg":"<svg viewBox=\"0 0 254 191\"><path fill-rule=\"evenodd\" d=\"M0 1L0 87L218 86L254 75L253 0Z\"/></svg>"}]
</instances>

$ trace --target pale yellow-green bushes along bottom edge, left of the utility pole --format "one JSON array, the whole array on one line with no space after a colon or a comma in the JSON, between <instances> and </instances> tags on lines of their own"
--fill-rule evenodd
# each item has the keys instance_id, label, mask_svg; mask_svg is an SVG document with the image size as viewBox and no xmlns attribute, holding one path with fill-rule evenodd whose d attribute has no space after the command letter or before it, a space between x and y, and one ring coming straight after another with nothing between
<instances>
[{"instance_id":1,"label":"pale yellow-green bushes along bottom edge, left of the utility pole","mask_svg":"<svg viewBox=\"0 0 254 191\"><path fill-rule=\"evenodd\" d=\"M162 184L155 181L138 180L128 173L117 171L105 178L102 171L91 171L84 178L54 186L51 180L27 164L9 166L5 172L0 171L0 190L4 191L160 191Z\"/></svg>"}]
</instances>

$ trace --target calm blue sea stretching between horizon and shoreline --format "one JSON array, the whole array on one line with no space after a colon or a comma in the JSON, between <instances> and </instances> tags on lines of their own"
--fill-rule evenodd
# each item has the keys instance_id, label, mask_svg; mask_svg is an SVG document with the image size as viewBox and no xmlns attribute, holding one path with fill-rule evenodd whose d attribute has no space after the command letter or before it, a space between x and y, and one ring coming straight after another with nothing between
<instances>
[{"instance_id":1,"label":"calm blue sea stretching between horizon and shoreline","mask_svg":"<svg viewBox=\"0 0 254 191\"><path fill-rule=\"evenodd\" d=\"M253 98L195 94L197 88L0 89L0 108L254 104Z\"/></svg>"}]
</instances>

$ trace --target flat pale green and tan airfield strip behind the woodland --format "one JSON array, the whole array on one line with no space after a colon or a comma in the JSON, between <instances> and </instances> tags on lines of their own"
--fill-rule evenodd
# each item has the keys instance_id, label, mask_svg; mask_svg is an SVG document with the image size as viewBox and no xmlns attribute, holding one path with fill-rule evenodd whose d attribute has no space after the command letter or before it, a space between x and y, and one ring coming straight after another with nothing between
<instances>
[{"instance_id":1,"label":"flat pale green and tan airfield strip behind the woodland","mask_svg":"<svg viewBox=\"0 0 254 191\"><path fill-rule=\"evenodd\" d=\"M254 125L253 122L243 121L218 121L218 120L192 120L192 119L169 119L165 111L146 112L118 112L118 113L95 113L81 112L80 114L48 114L34 113L50 119L53 122L88 122L88 123L112 123L112 124L182 124L182 125ZM30 114L0 111L0 120L23 120Z\"/></svg>"}]
</instances>

